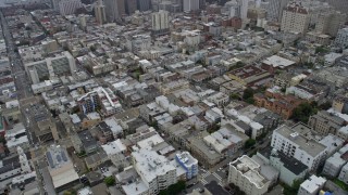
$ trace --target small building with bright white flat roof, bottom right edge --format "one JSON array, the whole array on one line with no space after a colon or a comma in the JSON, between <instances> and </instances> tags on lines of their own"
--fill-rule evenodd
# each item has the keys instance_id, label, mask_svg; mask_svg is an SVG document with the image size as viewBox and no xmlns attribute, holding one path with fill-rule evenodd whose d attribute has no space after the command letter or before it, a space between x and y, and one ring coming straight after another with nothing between
<instances>
[{"instance_id":1,"label":"small building with bright white flat roof, bottom right edge","mask_svg":"<svg viewBox=\"0 0 348 195\"><path fill-rule=\"evenodd\" d=\"M316 195L325 182L324 178L313 174L300 185L297 195Z\"/></svg>"}]
</instances>

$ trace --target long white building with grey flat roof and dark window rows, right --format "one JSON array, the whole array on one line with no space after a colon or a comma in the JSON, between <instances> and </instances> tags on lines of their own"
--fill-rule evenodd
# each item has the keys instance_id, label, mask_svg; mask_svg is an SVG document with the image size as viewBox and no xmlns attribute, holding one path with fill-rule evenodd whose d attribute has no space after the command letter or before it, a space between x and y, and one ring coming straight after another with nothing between
<instances>
[{"instance_id":1,"label":"long white building with grey flat roof and dark window rows, right","mask_svg":"<svg viewBox=\"0 0 348 195\"><path fill-rule=\"evenodd\" d=\"M310 171L315 171L326 156L323 144L307 139L287 126L281 126L273 131L271 146L300 160Z\"/></svg>"}]
</instances>

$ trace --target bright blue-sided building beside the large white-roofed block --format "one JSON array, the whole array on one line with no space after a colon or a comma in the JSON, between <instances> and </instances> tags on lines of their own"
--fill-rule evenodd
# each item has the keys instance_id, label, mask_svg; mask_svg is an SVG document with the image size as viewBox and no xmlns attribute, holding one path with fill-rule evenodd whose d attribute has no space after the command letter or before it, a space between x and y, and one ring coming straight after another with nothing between
<instances>
[{"instance_id":1,"label":"bright blue-sided building beside the large white-roofed block","mask_svg":"<svg viewBox=\"0 0 348 195\"><path fill-rule=\"evenodd\" d=\"M177 153L175 159L185 169L186 179L190 180L198 176L198 160L189 152Z\"/></svg>"}]
</instances>

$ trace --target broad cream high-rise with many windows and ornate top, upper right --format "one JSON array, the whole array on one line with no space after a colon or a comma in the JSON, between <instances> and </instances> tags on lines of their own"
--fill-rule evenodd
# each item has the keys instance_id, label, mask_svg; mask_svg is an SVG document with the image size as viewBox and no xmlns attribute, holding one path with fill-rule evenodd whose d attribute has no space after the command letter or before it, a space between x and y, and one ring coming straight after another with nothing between
<instances>
[{"instance_id":1,"label":"broad cream high-rise with many windows and ornate top, upper right","mask_svg":"<svg viewBox=\"0 0 348 195\"><path fill-rule=\"evenodd\" d=\"M291 3L283 10L282 31L304 34L308 29L310 14L300 4Z\"/></svg>"}]
</instances>

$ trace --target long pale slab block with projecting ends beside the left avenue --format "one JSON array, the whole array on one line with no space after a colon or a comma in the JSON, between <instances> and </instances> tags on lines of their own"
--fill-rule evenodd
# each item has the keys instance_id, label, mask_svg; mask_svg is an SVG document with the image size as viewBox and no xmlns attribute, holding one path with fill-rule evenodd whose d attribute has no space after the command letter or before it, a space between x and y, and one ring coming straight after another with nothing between
<instances>
[{"instance_id":1,"label":"long pale slab block with projecting ends beside the left avenue","mask_svg":"<svg viewBox=\"0 0 348 195\"><path fill-rule=\"evenodd\" d=\"M72 74L76 70L75 58L67 51L54 57L27 63L24 67L33 83L48 80L53 76Z\"/></svg>"}]
</instances>

